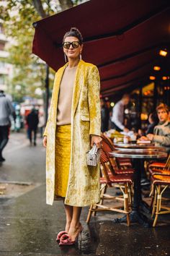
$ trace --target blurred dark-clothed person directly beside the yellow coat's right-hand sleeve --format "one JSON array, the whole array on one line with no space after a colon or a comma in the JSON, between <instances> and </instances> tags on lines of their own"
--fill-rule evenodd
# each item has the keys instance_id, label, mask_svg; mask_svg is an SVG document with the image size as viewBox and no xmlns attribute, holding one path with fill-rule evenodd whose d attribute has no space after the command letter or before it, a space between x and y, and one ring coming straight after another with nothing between
<instances>
[{"instance_id":1,"label":"blurred dark-clothed person directly beside the yellow coat's right-hand sleeve","mask_svg":"<svg viewBox=\"0 0 170 256\"><path fill-rule=\"evenodd\" d=\"M109 127L109 108L107 108L106 102L101 98L101 131L106 132Z\"/></svg>"}]
</instances>

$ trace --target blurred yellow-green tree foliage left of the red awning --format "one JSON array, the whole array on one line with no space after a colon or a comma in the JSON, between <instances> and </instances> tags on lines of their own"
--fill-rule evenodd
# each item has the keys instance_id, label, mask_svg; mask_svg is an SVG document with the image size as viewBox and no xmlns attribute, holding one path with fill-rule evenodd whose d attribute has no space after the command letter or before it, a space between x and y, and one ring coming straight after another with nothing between
<instances>
[{"instance_id":1,"label":"blurred yellow-green tree foliage left of the red awning","mask_svg":"<svg viewBox=\"0 0 170 256\"><path fill-rule=\"evenodd\" d=\"M6 8L1 7L0 13L1 19L4 20L5 33L12 40L12 43L6 46L9 51L8 62L14 67L14 77L9 81L9 93L15 101L22 101L24 95L38 98L35 89L45 90L46 73L45 63L32 54L32 39L35 33L32 23L41 17L30 0L8 0ZM51 13L53 12L50 10ZM16 85L20 85L21 90L16 90Z\"/></svg>"}]
</instances>

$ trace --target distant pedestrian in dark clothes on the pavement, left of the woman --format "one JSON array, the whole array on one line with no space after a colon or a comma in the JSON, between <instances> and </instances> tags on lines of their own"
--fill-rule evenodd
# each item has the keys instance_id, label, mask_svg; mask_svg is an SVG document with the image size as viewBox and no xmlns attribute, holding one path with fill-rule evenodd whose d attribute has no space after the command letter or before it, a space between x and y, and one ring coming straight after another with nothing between
<instances>
[{"instance_id":1,"label":"distant pedestrian in dark clothes on the pavement, left of the woman","mask_svg":"<svg viewBox=\"0 0 170 256\"><path fill-rule=\"evenodd\" d=\"M30 114L27 115L27 132L30 140L30 145L32 145L32 133L34 134L34 145L36 146L37 139L37 125L38 125L38 114L35 108L32 108Z\"/></svg>"}]
</instances>

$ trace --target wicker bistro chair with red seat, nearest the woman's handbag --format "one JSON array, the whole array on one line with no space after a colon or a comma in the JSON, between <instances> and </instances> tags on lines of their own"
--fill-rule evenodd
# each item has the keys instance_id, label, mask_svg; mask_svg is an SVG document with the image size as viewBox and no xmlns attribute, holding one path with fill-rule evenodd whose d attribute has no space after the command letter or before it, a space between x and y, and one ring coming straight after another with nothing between
<instances>
[{"instance_id":1,"label":"wicker bistro chair with red seat, nearest the woman's handbag","mask_svg":"<svg viewBox=\"0 0 170 256\"><path fill-rule=\"evenodd\" d=\"M89 208L89 214L86 219L86 223L89 223L92 213L97 211L115 211L117 213L125 213L127 215L127 224L130 226L130 191L129 187L133 184L133 174L113 174L112 166L107 158L104 150L101 150L101 178L100 178L100 201L97 204L91 205ZM113 184L118 184L122 192L123 197L117 197L106 194L107 188L112 187ZM123 202L123 205L104 205L104 200L116 200ZM123 209L121 209L123 208Z\"/></svg>"}]
</instances>

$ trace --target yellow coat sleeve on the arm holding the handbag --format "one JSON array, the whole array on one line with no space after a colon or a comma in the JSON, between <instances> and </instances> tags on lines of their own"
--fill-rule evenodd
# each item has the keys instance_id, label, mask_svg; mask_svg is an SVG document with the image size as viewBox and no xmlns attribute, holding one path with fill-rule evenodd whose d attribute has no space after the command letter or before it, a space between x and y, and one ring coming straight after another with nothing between
<instances>
[{"instance_id":1,"label":"yellow coat sleeve on the arm holding the handbag","mask_svg":"<svg viewBox=\"0 0 170 256\"><path fill-rule=\"evenodd\" d=\"M100 110L100 79L99 71L93 66L88 77L88 104L90 130L89 135L101 135L101 110Z\"/></svg>"}]
</instances>

